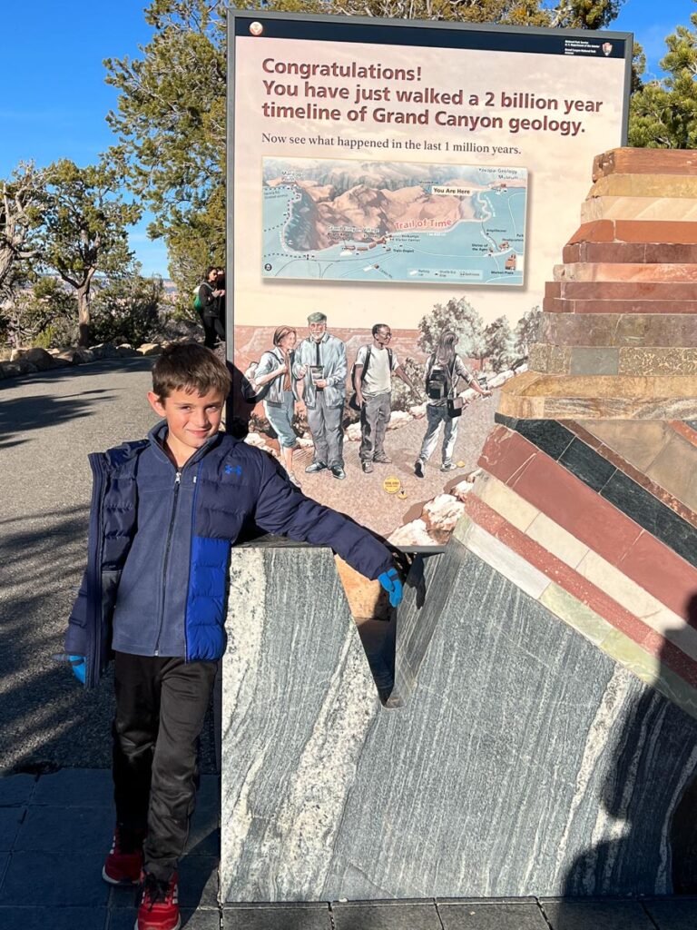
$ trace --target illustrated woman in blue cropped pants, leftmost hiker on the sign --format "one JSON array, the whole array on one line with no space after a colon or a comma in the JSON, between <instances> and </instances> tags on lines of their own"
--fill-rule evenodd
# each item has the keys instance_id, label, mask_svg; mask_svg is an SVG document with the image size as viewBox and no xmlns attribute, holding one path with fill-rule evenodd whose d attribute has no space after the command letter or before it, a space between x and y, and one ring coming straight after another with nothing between
<instances>
[{"instance_id":1,"label":"illustrated woman in blue cropped pants, leftmost hiker on the sign","mask_svg":"<svg viewBox=\"0 0 697 930\"><path fill-rule=\"evenodd\" d=\"M281 446L281 459L288 477L296 487L300 482L293 471L293 453L297 448L293 416L298 405L293 364L296 357L297 333L292 326L279 326L273 334L273 349L264 352L256 365L254 385L256 400L264 402L264 413Z\"/></svg>"}]
</instances>

